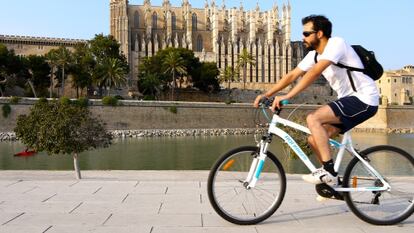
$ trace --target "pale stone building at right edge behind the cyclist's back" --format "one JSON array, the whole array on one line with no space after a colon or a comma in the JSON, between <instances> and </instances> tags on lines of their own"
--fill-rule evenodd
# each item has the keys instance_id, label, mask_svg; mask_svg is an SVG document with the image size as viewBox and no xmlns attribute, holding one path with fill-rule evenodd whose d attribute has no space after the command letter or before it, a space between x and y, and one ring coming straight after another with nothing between
<instances>
[{"instance_id":1,"label":"pale stone building at right edge behind the cyclist's back","mask_svg":"<svg viewBox=\"0 0 414 233\"><path fill-rule=\"evenodd\" d=\"M386 71L377 81L382 104L412 105L414 102L414 66Z\"/></svg>"}]
</instances>

